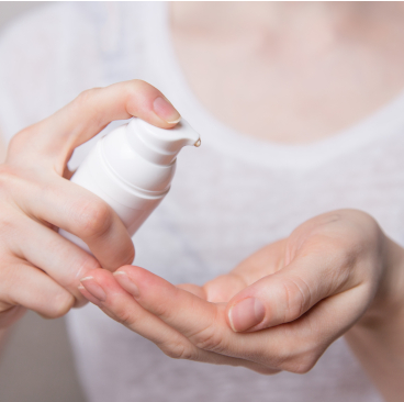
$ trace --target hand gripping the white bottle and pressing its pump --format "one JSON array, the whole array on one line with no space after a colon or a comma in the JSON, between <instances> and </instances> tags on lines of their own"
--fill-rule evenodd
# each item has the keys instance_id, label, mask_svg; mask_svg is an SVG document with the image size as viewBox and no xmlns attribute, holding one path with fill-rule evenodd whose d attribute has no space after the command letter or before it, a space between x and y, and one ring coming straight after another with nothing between
<instances>
[{"instance_id":1,"label":"hand gripping the white bottle and pressing its pump","mask_svg":"<svg viewBox=\"0 0 404 402\"><path fill-rule=\"evenodd\" d=\"M138 116L162 129L180 115L156 88L132 80L82 92L18 133L0 165L0 331L26 309L45 317L85 303L79 279L131 264L134 247L114 211L68 181L74 149L113 120ZM82 238L93 256L61 237Z\"/></svg>"}]
</instances>

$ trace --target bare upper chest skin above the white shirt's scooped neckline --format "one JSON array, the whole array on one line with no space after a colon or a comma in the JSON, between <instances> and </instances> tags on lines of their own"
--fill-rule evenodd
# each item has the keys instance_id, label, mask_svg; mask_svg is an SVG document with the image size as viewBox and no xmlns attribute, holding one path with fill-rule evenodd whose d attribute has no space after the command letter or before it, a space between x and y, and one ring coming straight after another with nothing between
<instances>
[{"instance_id":1,"label":"bare upper chest skin above the white shirt's scooped neckline","mask_svg":"<svg viewBox=\"0 0 404 402\"><path fill-rule=\"evenodd\" d=\"M280 143L333 135L404 88L402 3L178 2L177 57L225 124Z\"/></svg>"}]
</instances>

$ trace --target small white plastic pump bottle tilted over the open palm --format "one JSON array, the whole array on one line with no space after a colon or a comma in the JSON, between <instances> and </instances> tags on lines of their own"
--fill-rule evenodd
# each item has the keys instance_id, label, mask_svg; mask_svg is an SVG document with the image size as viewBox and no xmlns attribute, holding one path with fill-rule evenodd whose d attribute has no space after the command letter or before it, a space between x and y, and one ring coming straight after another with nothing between
<instances>
[{"instance_id":1,"label":"small white plastic pump bottle tilted over the open palm","mask_svg":"<svg viewBox=\"0 0 404 402\"><path fill-rule=\"evenodd\" d=\"M132 236L169 191L177 154L184 145L200 144L183 120L165 130L134 118L97 143L71 181L104 200ZM79 237L59 233L91 253Z\"/></svg>"}]
</instances>

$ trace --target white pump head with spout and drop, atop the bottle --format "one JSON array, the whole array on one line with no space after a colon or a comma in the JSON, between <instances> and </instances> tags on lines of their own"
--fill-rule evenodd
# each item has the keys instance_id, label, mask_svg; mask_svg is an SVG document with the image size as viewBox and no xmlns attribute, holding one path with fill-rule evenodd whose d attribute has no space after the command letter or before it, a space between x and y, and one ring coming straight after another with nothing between
<instances>
[{"instance_id":1,"label":"white pump head with spout and drop, atop the bottle","mask_svg":"<svg viewBox=\"0 0 404 402\"><path fill-rule=\"evenodd\" d=\"M157 165L171 164L186 145L201 145L199 134L183 119L167 130L134 118L126 127L126 135L137 154Z\"/></svg>"}]
</instances>

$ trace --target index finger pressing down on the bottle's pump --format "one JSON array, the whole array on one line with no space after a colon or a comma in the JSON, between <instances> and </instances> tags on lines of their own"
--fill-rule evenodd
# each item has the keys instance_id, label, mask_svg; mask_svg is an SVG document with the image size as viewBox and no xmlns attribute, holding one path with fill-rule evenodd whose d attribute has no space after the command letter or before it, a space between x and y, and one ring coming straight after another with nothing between
<instances>
[{"instance_id":1,"label":"index finger pressing down on the bottle's pump","mask_svg":"<svg viewBox=\"0 0 404 402\"><path fill-rule=\"evenodd\" d=\"M35 159L61 175L72 150L114 120L141 118L161 129L180 119L164 94L142 80L119 82L82 92L52 116L22 131L12 141L8 160ZM33 135L34 134L34 135ZM19 155L16 155L19 154ZM24 155L21 158L21 154Z\"/></svg>"}]
</instances>

